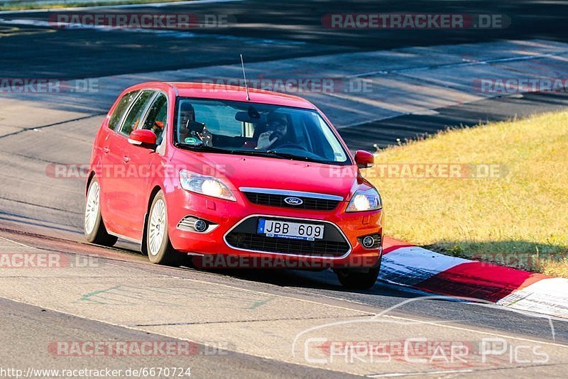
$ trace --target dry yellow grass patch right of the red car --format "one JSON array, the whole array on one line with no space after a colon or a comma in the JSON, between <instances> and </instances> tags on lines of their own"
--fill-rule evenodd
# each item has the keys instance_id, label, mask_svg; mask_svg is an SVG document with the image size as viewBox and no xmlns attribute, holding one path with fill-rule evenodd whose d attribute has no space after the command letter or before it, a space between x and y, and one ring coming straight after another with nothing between
<instances>
[{"instance_id":1,"label":"dry yellow grass patch right of the red car","mask_svg":"<svg viewBox=\"0 0 568 379\"><path fill-rule=\"evenodd\" d=\"M435 251L568 278L568 111L445 131L381 150L364 173L386 234ZM383 164L497 165L489 178L400 178ZM462 167L463 170L463 167Z\"/></svg>"}]
</instances>

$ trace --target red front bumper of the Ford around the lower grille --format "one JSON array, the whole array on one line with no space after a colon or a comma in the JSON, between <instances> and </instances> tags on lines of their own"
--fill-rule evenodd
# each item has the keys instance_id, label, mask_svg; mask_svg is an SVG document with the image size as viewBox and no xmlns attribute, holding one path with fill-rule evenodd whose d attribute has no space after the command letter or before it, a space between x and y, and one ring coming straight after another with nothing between
<instances>
[{"instance_id":1,"label":"red front bumper of the Ford around the lower grille","mask_svg":"<svg viewBox=\"0 0 568 379\"><path fill-rule=\"evenodd\" d=\"M280 263L284 262L284 265L291 264L292 266L302 262L308 264L304 266L306 268L371 267L379 261L382 253L382 241L373 248L364 248L360 240L361 236L371 234L378 234L382 237L382 209L345 213L346 201L339 202L337 208L332 211L290 209L254 204L242 192L234 191L234 195L237 199L236 202L215 199L179 188L166 192L168 232L173 247L183 253L202 256L239 256L253 259L256 263L258 263L257 258L262 259L263 263L273 259ZM187 227L180 229L178 227L180 221L187 216L210 221L216 226L208 228L202 233L190 231L191 229ZM325 251L325 248L311 248L306 253L297 250L294 253L274 251L274 247L272 247L272 251L263 251L260 248L251 250L243 248L242 245L236 246L234 238L231 239L231 231L242 226L247 220L254 220L256 217L324 224L325 233L330 238L332 234L337 241L339 241L339 235L344 238L346 245L340 247L345 247L345 250L342 251L341 248L336 248L333 244L329 244L329 246L334 246L333 251L331 251L332 248L329 252ZM328 230L333 233L329 234ZM324 237L326 234L324 234ZM234 264L234 266L238 265Z\"/></svg>"}]
</instances>

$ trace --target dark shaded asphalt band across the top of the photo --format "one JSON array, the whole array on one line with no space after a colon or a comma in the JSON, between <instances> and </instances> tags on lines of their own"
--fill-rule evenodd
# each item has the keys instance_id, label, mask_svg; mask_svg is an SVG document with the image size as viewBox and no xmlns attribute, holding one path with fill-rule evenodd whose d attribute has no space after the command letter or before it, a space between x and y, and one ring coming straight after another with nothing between
<instances>
[{"instance_id":1,"label":"dark shaded asphalt band across the top of the photo","mask_svg":"<svg viewBox=\"0 0 568 379\"><path fill-rule=\"evenodd\" d=\"M384 50L403 46L449 45L489 40L567 40L563 1L229 1L172 5L168 12L229 16L228 28L168 34L58 30L18 26L21 31L2 38L0 73L3 77L84 78L131 72L175 70L223 65L243 53L249 62ZM113 9L116 13L160 12L163 8ZM105 12L98 9L92 12ZM503 14L510 26L464 30L329 29L327 13L466 13ZM51 13L5 13L0 18L47 20ZM232 21L231 21L232 20ZM0 22L0 26L3 24ZM7 24L6 24L7 25ZM29 32L25 33L25 32ZM227 36L237 39L227 39ZM272 40L273 43L266 43ZM231 42L232 41L232 42Z\"/></svg>"}]
</instances>

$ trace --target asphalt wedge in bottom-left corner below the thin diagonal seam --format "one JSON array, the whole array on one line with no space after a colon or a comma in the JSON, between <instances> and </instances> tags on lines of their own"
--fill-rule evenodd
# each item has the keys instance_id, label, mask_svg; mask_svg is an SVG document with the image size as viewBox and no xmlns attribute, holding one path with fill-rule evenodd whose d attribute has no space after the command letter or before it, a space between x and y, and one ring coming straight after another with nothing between
<instances>
[{"instance_id":1,"label":"asphalt wedge in bottom-left corner below the thin diagonal seam","mask_svg":"<svg viewBox=\"0 0 568 379\"><path fill-rule=\"evenodd\" d=\"M102 322L74 317L70 314L62 314L51 310L33 307L20 302L0 299L0 306L4 309L0 314L0 337L3 341L12 341L9 348L3 348L2 367L28 367L35 368L59 368L74 369L82 367L109 368L111 370L126 370L128 368L138 369L141 367L169 367L187 368L194 376L200 378L218 378L234 376L236 373L246 378L344 378L351 375L340 374L328 370L306 370L305 367L290 363L269 361L268 359L258 358L231 351L221 352L215 356L212 362L211 357L205 354L196 354L190 361L187 357L150 357L143 361L138 357L116 357L107 356L97 359L93 365L90 357L80 358L72 364L50 362L50 353L47 350L41 351L38 356L31 358L30 343L50 344L53 336L72 336L73 339L84 341L176 341L175 339L163 339L160 336L151 335L143 331L110 326ZM192 345L192 348L205 351L202 345ZM43 361L43 362L40 362ZM141 366L143 364L144 366ZM47 376L47 375L46 375ZM173 375L170 375L173 376Z\"/></svg>"}]
</instances>

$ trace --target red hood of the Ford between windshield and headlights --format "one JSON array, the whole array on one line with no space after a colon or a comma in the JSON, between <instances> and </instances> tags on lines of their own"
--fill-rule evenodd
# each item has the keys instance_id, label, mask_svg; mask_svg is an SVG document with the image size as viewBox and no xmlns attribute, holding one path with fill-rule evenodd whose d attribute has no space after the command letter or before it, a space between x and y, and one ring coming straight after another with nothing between
<instances>
[{"instance_id":1,"label":"red hood of the Ford between windshield and headlights","mask_svg":"<svg viewBox=\"0 0 568 379\"><path fill-rule=\"evenodd\" d=\"M222 179L231 190L239 187L287 189L333 194L349 199L362 182L355 165L327 165L279 158L178 150L176 165Z\"/></svg>"}]
</instances>

